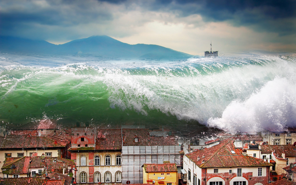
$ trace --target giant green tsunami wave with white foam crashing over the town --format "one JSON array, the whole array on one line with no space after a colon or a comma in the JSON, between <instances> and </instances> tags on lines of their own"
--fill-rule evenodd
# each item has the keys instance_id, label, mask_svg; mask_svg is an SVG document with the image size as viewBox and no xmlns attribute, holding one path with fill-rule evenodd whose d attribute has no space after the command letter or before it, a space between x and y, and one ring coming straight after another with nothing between
<instances>
[{"instance_id":1,"label":"giant green tsunami wave with white foam crashing over the town","mask_svg":"<svg viewBox=\"0 0 296 185\"><path fill-rule=\"evenodd\" d=\"M0 98L0 119L19 123L194 120L231 132L283 128L296 126L296 56L122 61L0 53Z\"/></svg>"}]
</instances>

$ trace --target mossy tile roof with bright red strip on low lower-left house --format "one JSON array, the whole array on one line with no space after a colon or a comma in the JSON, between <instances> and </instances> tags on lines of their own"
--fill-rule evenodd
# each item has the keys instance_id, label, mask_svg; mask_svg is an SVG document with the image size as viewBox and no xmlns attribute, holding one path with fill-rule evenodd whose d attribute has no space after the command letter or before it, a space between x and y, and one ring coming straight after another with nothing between
<instances>
[{"instance_id":1,"label":"mossy tile roof with bright red strip on low lower-left house","mask_svg":"<svg viewBox=\"0 0 296 185\"><path fill-rule=\"evenodd\" d=\"M12 164L15 164L15 169L11 168ZM6 158L1 169L2 173L5 174L26 174L29 172L30 168L44 168L44 166L47 166L49 169L54 169L55 172L60 173L63 172L63 168L68 169L68 166L71 166L71 168L74 167L76 169L76 165L73 160L43 156Z\"/></svg>"}]
</instances>

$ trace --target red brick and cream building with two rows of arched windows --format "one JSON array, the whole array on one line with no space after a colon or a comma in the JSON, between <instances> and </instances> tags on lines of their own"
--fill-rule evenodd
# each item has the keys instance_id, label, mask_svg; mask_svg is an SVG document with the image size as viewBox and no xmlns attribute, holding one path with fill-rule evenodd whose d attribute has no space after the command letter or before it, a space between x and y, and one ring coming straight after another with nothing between
<instances>
[{"instance_id":1,"label":"red brick and cream building with two rows of arched windows","mask_svg":"<svg viewBox=\"0 0 296 185\"><path fill-rule=\"evenodd\" d=\"M121 184L121 129L75 127L71 143L77 183Z\"/></svg>"}]
</instances>

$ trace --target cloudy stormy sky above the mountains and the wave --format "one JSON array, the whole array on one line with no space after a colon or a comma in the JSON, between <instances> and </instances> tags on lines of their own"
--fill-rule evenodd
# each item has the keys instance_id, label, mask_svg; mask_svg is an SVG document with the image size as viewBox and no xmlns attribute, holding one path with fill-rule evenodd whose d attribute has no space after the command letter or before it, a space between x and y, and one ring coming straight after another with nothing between
<instances>
[{"instance_id":1,"label":"cloudy stormy sky above the mountains and the wave","mask_svg":"<svg viewBox=\"0 0 296 185\"><path fill-rule=\"evenodd\" d=\"M197 55L296 51L295 0L1 0L0 35L62 44L107 35Z\"/></svg>"}]
</instances>

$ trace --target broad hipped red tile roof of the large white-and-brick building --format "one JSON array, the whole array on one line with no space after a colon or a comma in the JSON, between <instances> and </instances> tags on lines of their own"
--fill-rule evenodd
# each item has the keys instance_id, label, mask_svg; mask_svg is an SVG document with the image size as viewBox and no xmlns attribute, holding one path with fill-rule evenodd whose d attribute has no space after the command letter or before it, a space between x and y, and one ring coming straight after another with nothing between
<instances>
[{"instance_id":1,"label":"broad hipped red tile roof of the large white-and-brick building","mask_svg":"<svg viewBox=\"0 0 296 185\"><path fill-rule=\"evenodd\" d=\"M243 155L241 148L234 147L233 139L226 139L221 141L220 144L210 148L195 150L185 156L200 168L272 166L272 164L262 159ZM231 151L234 151L234 153ZM200 158L199 160L198 157Z\"/></svg>"}]
</instances>

